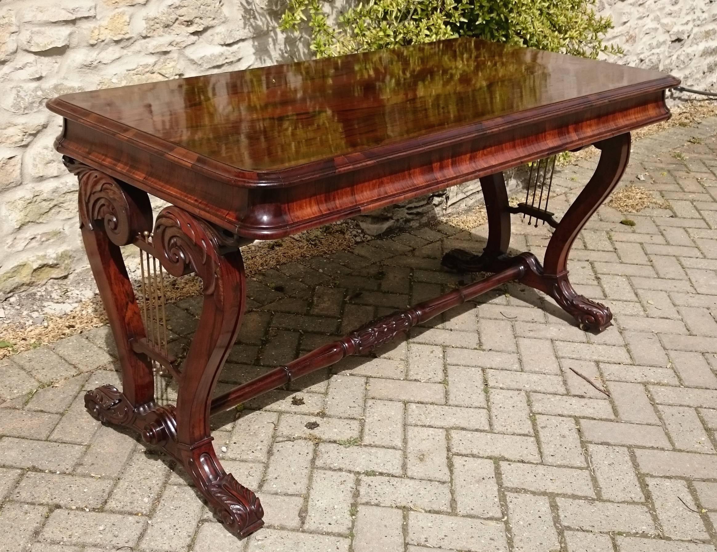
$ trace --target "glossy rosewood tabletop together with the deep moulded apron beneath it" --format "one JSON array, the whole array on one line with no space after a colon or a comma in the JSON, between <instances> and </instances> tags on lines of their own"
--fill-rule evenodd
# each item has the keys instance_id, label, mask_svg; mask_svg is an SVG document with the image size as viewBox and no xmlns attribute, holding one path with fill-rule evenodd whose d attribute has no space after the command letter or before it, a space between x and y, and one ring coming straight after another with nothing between
<instances>
[{"instance_id":1,"label":"glossy rosewood tabletop together with the deep moulded apron beneath it","mask_svg":"<svg viewBox=\"0 0 717 552\"><path fill-rule=\"evenodd\" d=\"M678 82L457 39L47 105L65 117L60 152L268 239L665 120Z\"/></svg>"}]
</instances>

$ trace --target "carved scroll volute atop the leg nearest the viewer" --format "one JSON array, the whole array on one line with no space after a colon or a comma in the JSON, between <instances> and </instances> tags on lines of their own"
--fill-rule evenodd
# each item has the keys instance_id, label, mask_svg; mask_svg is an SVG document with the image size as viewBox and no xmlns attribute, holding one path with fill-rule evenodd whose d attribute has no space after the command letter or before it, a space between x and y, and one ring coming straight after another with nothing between
<instances>
[{"instance_id":1,"label":"carved scroll volute atop the leg nearest the viewer","mask_svg":"<svg viewBox=\"0 0 717 552\"><path fill-rule=\"evenodd\" d=\"M208 223L180 208L167 207L157 216L153 236L160 261L173 276L181 276L186 266L191 267L204 282L204 295L214 294L215 287L222 285L217 273L227 247ZM215 296L221 300L222 294Z\"/></svg>"}]
</instances>

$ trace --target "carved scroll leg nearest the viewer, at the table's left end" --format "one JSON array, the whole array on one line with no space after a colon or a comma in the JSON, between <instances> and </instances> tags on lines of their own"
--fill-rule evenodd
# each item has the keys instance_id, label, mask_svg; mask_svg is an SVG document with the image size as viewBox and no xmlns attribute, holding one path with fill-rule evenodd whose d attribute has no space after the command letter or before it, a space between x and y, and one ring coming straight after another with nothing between
<instances>
[{"instance_id":1,"label":"carved scroll leg nearest the viewer, at the table's left end","mask_svg":"<svg viewBox=\"0 0 717 552\"><path fill-rule=\"evenodd\" d=\"M242 256L238 250L225 253L211 226L174 207L159 213L154 244L168 271L181 274L188 264L201 277L204 306L182 367L176 414L157 420L148 437L166 441L214 517L232 533L247 536L264 524L264 510L251 490L224 471L209 429L214 385L237 339L244 311Z\"/></svg>"}]
</instances>

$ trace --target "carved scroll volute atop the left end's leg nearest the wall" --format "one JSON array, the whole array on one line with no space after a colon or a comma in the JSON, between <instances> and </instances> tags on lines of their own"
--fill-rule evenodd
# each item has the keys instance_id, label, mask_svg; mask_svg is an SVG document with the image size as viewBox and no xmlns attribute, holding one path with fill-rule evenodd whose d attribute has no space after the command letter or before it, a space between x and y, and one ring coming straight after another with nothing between
<instances>
[{"instance_id":1,"label":"carved scroll volute atop the left end's leg nearest the wall","mask_svg":"<svg viewBox=\"0 0 717 552\"><path fill-rule=\"evenodd\" d=\"M72 158L62 158L62 162L80 182L82 226L92 229L95 223L101 223L117 246L125 246L138 234L151 230L152 208L145 192Z\"/></svg>"}]
</instances>

